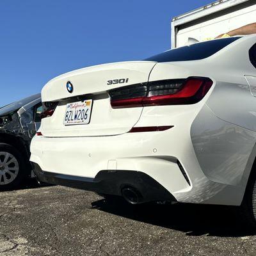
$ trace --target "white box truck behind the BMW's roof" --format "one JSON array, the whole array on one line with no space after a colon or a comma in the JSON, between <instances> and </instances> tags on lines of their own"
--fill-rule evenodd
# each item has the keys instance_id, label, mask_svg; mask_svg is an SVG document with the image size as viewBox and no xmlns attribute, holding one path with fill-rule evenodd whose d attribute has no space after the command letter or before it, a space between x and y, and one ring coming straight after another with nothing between
<instances>
[{"instance_id":1,"label":"white box truck behind the BMW's roof","mask_svg":"<svg viewBox=\"0 0 256 256\"><path fill-rule=\"evenodd\" d=\"M256 0L220 0L172 19L172 48L204 41L256 22Z\"/></svg>"}]
</instances>

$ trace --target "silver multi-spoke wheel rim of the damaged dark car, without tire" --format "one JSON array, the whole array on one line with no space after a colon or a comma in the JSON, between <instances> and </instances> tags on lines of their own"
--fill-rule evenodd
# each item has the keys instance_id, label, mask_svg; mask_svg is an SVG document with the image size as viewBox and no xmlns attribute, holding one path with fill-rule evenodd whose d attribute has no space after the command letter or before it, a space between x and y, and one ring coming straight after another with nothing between
<instances>
[{"instance_id":1,"label":"silver multi-spoke wheel rim of the damaged dark car, without tire","mask_svg":"<svg viewBox=\"0 0 256 256\"><path fill-rule=\"evenodd\" d=\"M0 152L0 185L13 182L19 173L17 159L8 152Z\"/></svg>"}]
</instances>

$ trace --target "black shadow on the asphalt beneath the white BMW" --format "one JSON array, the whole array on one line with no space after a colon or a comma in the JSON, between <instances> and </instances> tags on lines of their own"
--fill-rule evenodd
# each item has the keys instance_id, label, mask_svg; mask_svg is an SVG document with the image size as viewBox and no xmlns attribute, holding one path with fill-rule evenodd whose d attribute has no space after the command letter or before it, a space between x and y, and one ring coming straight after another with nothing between
<instances>
[{"instance_id":1,"label":"black shadow on the asphalt beneath the white BMW","mask_svg":"<svg viewBox=\"0 0 256 256\"><path fill-rule=\"evenodd\" d=\"M256 234L246 227L237 207L220 205L130 205L123 200L109 202L98 200L93 209L109 212L159 227L179 230L187 236L243 237Z\"/></svg>"}]
</instances>

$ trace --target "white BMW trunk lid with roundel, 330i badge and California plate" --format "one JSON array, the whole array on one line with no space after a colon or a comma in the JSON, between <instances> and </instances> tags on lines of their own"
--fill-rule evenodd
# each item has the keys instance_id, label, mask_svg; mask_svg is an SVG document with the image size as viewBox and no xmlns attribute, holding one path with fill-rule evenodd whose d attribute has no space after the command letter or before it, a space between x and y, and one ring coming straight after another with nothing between
<instances>
[{"instance_id":1,"label":"white BMW trunk lid with roundel, 330i badge and California plate","mask_svg":"<svg viewBox=\"0 0 256 256\"><path fill-rule=\"evenodd\" d=\"M131 84L142 86L154 65L152 61L110 63L52 79L42 90L42 101L58 102L58 106L52 116L42 119L40 131L49 137L111 136L128 132L138 122L142 108L113 109L108 91ZM68 92L70 84L72 90ZM77 106L79 109L81 104L90 106L86 113L90 118L84 124L77 124L77 120L75 124L68 123L67 111ZM74 115L77 112L73 111L69 119L74 120Z\"/></svg>"}]
</instances>

